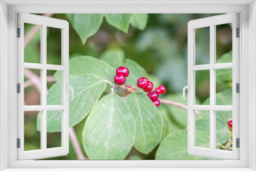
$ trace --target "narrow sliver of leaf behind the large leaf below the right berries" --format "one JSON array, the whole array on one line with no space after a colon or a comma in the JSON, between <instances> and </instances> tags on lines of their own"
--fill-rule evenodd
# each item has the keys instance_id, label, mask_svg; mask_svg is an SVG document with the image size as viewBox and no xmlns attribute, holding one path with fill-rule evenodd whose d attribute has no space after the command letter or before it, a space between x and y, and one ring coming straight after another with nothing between
<instances>
[{"instance_id":1,"label":"narrow sliver of leaf behind the large leaf below the right berries","mask_svg":"<svg viewBox=\"0 0 256 171\"><path fill-rule=\"evenodd\" d=\"M158 106L158 110L161 114L162 122L163 122L162 136L160 139L160 142L162 142L164 138L170 134L172 125L170 124L170 118L168 117L168 114L165 108L162 105L160 105Z\"/></svg>"}]
</instances>

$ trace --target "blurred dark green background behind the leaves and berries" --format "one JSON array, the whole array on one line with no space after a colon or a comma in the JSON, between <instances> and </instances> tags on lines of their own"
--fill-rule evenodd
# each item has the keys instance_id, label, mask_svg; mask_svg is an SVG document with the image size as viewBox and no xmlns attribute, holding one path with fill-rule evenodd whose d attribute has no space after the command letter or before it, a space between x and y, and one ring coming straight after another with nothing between
<instances>
[{"instance_id":1,"label":"blurred dark green background behind the leaves and berries","mask_svg":"<svg viewBox=\"0 0 256 171\"><path fill-rule=\"evenodd\" d=\"M42 14L36 14L42 15ZM109 49L123 50L125 57L135 60L150 75L150 79L163 84L167 92L165 99L186 104L182 98L182 88L187 85L187 23L189 20L199 19L219 14L149 14L148 22L144 30L134 27L129 28L126 34L110 26L103 20L99 31L88 38L82 45L76 31L70 25L69 52L70 59L76 56L88 55L98 58ZM53 14L51 17L68 20L66 14ZM69 20L68 20L69 22ZM25 24L25 35L33 25ZM217 60L223 54L232 50L232 26L220 25L216 28L216 57ZM61 31L60 29L48 28L47 30L47 63L60 65L61 61ZM25 48L25 62L40 63L40 32L31 37ZM196 30L196 65L209 63L209 28ZM230 61L232 62L232 61ZM55 83L53 74L55 71L47 72L47 88ZM40 78L40 71L30 70L29 74L35 74ZM217 82L217 92L230 89L230 81ZM40 93L32 83L25 78L25 105L40 105ZM196 96L197 103L201 104L209 97L209 71L197 71L196 73ZM187 118L182 121L175 115L185 116L186 111L163 105L166 108L171 132L184 130ZM182 113L182 114L181 114ZM25 112L25 151L40 149L40 132L36 131L36 120L38 112ZM82 148L82 129L84 119L74 126L75 133ZM61 145L60 133L47 133L47 147L58 147ZM132 149L126 159L154 159L156 149L148 155L141 154ZM82 149L83 151L83 149ZM84 153L84 151L83 151ZM84 153L84 156L86 154ZM76 160L73 146L70 142L70 152L67 156L48 158L46 160Z\"/></svg>"}]
</instances>

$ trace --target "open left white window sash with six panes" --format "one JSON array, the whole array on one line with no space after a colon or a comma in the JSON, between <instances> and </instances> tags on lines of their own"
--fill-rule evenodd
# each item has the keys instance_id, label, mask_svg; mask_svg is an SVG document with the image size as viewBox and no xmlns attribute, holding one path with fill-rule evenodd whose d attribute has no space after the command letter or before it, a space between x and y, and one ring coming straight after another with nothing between
<instances>
[{"instance_id":1,"label":"open left white window sash with six panes","mask_svg":"<svg viewBox=\"0 0 256 171\"><path fill-rule=\"evenodd\" d=\"M24 23L41 26L41 62L24 62ZM17 27L20 37L17 38L17 83L20 83L20 93L17 94L17 138L20 138L20 148L17 148L17 159L40 159L69 153L69 92L66 89L69 82L69 23L65 20L50 17L20 13L17 14ZM61 29L61 65L47 64L47 27ZM40 69L41 71L41 105L24 106L24 69ZM62 71L61 105L47 105L47 70ZM47 148L47 115L48 110L61 110L61 147ZM41 111L41 149L24 151L24 111Z\"/></svg>"}]
</instances>

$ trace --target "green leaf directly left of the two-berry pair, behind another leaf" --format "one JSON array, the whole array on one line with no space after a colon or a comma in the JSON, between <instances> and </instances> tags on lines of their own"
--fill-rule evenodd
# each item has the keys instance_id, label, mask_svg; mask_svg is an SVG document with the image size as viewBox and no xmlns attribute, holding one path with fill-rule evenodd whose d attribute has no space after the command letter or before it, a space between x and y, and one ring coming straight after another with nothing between
<instances>
[{"instance_id":1,"label":"green leaf directly left of the two-berry pair, behind another leaf","mask_svg":"<svg viewBox=\"0 0 256 171\"><path fill-rule=\"evenodd\" d=\"M69 75L81 76L84 74L94 74L103 79L113 81L116 71L105 61L91 56L80 56L71 59L69 61ZM60 80L61 71L57 71L54 77L56 80Z\"/></svg>"}]
</instances>

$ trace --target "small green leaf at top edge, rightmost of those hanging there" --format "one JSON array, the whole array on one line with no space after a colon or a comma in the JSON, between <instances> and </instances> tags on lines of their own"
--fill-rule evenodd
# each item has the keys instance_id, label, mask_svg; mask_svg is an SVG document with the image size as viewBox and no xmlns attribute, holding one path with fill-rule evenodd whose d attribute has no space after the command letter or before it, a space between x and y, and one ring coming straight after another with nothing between
<instances>
[{"instance_id":1,"label":"small green leaf at top edge, rightmost of those hanging there","mask_svg":"<svg viewBox=\"0 0 256 171\"><path fill-rule=\"evenodd\" d=\"M146 28L146 23L148 19L148 14L133 14L131 25L136 29L144 30Z\"/></svg>"}]
</instances>

